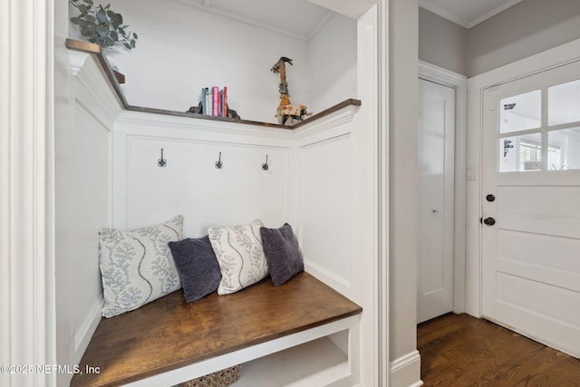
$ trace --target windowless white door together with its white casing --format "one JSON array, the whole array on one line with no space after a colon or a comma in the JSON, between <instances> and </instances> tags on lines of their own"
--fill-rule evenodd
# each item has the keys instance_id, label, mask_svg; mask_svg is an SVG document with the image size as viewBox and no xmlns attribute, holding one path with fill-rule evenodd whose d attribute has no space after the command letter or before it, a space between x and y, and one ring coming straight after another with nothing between
<instances>
[{"instance_id":1,"label":"windowless white door together with its white casing","mask_svg":"<svg viewBox=\"0 0 580 387\"><path fill-rule=\"evenodd\" d=\"M464 311L467 79L420 62L417 322Z\"/></svg>"}]
</instances>

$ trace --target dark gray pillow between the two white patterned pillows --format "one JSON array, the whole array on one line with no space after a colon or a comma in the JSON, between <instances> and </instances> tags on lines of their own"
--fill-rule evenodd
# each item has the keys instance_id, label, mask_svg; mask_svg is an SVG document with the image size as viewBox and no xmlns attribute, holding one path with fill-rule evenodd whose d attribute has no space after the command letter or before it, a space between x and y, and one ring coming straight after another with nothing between
<instances>
[{"instance_id":1,"label":"dark gray pillow between the two white patterned pillows","mask_svg":"<svg viewBox=\"0 0 580 387\"><path fill-rule=\"evenodd\" d=\"M208 236L169 242L169 248L188 303L218 289L221 280L218 258Z\"/></svg>"}]
</instances>

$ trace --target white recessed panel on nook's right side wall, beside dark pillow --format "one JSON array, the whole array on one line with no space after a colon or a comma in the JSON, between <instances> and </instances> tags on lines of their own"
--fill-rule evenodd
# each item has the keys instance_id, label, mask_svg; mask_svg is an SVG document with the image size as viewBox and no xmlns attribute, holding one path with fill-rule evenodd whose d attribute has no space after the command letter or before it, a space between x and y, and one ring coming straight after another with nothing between
<instances>
[{"instance_id":1,"label":"white recessed panel on nook's right side wall, beside dark pillow","mask_svg":"<svg viewBox=\"0 0 580 387\"><path fill-rule=\"evenodd\" d=\"M308 271L344 295L351 293L354 189L350 133L301 147L304 262Z\"/></svg>"}]
</instances>

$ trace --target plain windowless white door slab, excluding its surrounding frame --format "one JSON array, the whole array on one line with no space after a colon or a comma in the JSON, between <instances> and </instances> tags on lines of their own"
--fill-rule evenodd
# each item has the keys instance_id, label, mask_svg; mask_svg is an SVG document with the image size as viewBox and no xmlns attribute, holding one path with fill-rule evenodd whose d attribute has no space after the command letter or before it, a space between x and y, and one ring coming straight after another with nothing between
<instances>
[{"instance_id":1,"label":"plain windowless white door slab, excluding its surrounding frame","mask_svg":"<svg viewBox=\"0 0 580 387\"><path fill-rule=\"evenodd\" d=\"M455 90L419 80L418 323L453 310Z\"/></svg>"}]
</instances>

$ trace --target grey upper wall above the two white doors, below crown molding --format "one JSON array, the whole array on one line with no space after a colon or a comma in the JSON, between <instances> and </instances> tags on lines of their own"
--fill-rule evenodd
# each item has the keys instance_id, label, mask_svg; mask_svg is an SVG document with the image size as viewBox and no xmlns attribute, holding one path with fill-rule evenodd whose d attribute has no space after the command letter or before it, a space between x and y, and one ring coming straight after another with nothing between
<instances>
[{"instance_id":1,"label":"grey upper wall above the two white doors, below crown molding","mask_svg":"<svg viewBox=\"0 0 580 387\"><path fill-rule=\"evenodd\" d=\"M419 10L419 57L475 76L580 38L580 3L524 0L469 29Z\"/></svg>"}]
</instances>

